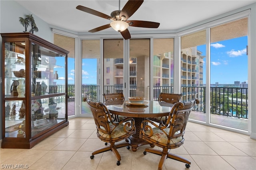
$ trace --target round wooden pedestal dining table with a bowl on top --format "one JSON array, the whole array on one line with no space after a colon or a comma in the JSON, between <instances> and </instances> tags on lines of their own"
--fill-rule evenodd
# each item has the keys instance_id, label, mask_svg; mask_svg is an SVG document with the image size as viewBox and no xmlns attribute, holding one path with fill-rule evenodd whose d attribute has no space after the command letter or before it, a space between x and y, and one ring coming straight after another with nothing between
<instances>
[{"instance_id":1,"label":"round wooden pedestal dining table with a bowl on top","mask_svg":"<svg viewBox=\"0 0 256 170\"><path fill-rule=\"evenodd\" d=\"M133 104L130 101L125 100L108 102L105 103L105 105L109 112L114 115L132 117L134 119L136 132L127 140L130 142L132 151L136 152L139 146L150 144L146 140L140 138L142 121L148 118L168 116L174 104L147 100L141 104ZM144 124L144 126L146 126L146 124ZM150 146L154 147L154 144L150 144Z\"/></svg>"}]
</instances>

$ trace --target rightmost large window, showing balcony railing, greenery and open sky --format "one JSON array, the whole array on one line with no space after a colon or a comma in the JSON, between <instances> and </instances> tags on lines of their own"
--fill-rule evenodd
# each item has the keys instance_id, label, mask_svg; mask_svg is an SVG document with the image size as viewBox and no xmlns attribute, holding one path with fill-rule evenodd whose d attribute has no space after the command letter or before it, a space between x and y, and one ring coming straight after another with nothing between
<instances>
[{"instance_id":1,"label":"rightmost large window, showing balcony railing, greenery and open sky","mask_svg":"<svg viewBox=\"0 0 256 170\"><path fill-rule=\"evenodd\" d=\"M248 130L247 35L248 18L210 29L210 122L242 130Z\"/></svg>"}]
</instances>

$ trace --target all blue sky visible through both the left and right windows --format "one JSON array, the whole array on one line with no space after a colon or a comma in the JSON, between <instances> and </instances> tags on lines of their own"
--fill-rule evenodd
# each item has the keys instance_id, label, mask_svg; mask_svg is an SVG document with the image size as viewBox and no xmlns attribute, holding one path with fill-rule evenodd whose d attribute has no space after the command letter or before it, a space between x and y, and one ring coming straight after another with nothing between
<instances>
[{"instance_id":1,"label":"all blue sky visible through both the left and right windows","mask_svg":"<svg viewBox=\"0 0 256 170\"><path fill-rule=\"evenodd\" d=\"M234 84L248 81L248 56L246 55L247 36L211 43L210 45L210 83ZM197 47L206 55L206 45ZM58 57L57 57L58 58ZM58 61L57 59L57 64ZM97 84L96 59L82 60L82 84ZM206 83L206 58L203 65L203 83ZM61 70L61 69L54 69ZM74 84L74 58L68 58L68 84ZM57 84L64 84L64 73L58 71Z\"/></svg>"}]
</instances>

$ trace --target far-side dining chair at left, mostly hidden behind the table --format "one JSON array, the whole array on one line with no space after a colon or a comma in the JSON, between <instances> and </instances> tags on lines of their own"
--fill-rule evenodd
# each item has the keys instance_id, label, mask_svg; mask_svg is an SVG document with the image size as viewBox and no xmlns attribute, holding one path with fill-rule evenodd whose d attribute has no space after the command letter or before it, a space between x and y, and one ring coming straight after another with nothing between
<instances>
[{"instance_id":1,"label":"far-side dining chair at left, mostly hidden behind the table","mask_svg":"<svg viewBox=\"0 0 256 170\"><path fill-rule=\"evenodd\" d=\"M105 103L109 103L109 102L116 102L116 101L124 101L124 94L122 92L120 93L103 93L104 96L104 102ZM114 121L122 121L124 119L126 119L125 116L118 116L118 115L114 115L112 114L112 117L114 118Z\"/></svg>"}]
</instances>

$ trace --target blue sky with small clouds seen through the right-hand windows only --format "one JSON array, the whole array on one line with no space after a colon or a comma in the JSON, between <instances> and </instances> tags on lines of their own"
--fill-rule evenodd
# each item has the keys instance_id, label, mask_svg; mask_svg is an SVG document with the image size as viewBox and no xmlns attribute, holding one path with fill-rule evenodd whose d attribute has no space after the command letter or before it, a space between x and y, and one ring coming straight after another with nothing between
<instances>
[{"instance_id":1,"label":"blue sky with small clouds seen through the right-hand windows only","mask_svg":"<svg viewBox=\"0 0 256 170\"><path fill-rule=\"evenodd\" d=\"M247 36L210 44L210 83L234 84L234 81L248 83ZM206 45L197 49L206 55ZM204 84L206 83L206 58L204 58Z\"/></svg>"}]
</instances>

